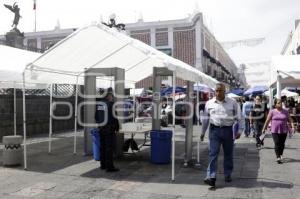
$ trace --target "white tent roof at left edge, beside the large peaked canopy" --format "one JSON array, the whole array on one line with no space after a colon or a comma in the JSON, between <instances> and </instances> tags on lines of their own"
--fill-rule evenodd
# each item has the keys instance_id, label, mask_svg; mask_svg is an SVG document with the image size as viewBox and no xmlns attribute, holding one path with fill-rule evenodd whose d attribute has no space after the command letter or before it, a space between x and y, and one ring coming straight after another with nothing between
<instances>
[{"instance_id":1,"label":"white tent roof at left edge, beside the large peaked canopy","mask_svg":"<svg viewBox=\"0 0 300 199\"><path fill-rule=\"evenodd\" d=\"M25 66L41 54L0 45L0 55L2 55L0 59L0 87L22 88L22 73Z\"/></svg>"}]
</instances>

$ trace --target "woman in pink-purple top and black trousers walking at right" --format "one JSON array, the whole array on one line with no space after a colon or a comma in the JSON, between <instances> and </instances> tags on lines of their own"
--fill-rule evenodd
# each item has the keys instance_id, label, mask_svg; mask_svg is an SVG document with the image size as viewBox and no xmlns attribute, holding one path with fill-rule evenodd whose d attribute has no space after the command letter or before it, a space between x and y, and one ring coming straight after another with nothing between
<instances>
[{"instance_id":1,"label":"woman in pink-purple top and black trousers walking at right","mask_svg":"<svg viewBox=\"0 0 300 199\"><path fill-rule=\"evenodd\" d=\"M289 124L292 125L292 132L295 132L295 127L288 110L282 108L280 99L275 99L274 109L272 109L267 117L262 132L265 133L271 121L271 133L275 144L275 154L277 163L282 163L282 154L285 146L285 140L289 130ZM289 123L289 124L288 124ZM290 132L290 133L292 133Z\"/></svg>"}]
</instances>

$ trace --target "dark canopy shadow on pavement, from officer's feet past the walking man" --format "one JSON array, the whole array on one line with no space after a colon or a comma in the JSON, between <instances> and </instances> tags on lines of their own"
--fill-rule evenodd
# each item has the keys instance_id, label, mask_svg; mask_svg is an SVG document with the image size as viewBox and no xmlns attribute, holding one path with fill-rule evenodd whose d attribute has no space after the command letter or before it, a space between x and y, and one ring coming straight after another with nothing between
<instances>
[{"instance_id":1,"label":"dark canopy shadow on pavement, from officer's feet past the walking man","mask_svg":"<svg viewBox=\"0 0 300 199\"><path fill-rule=\"evenodd\" d=\"M208 165L208 149L207 143L201 143L200 168L184 167L183 159L178 158L184 153L184 143L176 143L176 166L175 166L175 181L171 181L171 164L155 165L150 163L150 150L144 150L136 155L125 156L123 159L116 161L115 165L120 168L117 173L107 173L100 169L94 169L83 173L82 177L89 178L106 178L120 181L137 181L137 182L155 182L155 183L174 183L174 184L199 184L204 185L203 180L206 175ZM197 154L196 146L194 146L193 154ZM196 159L196 157L194 157ZM233 179L236 182L228 184L236 187L257 187L259 183L256 178L260 167L259 151L252 144L236 144L235 169ZM218 175L217 185L226 186L223 173L223 151L220 151L218 160ZM249 183L242 183L239 178L248 176L252 178ZM239 182L239 183L237 183Z\"/></svg>"}]
</instances>

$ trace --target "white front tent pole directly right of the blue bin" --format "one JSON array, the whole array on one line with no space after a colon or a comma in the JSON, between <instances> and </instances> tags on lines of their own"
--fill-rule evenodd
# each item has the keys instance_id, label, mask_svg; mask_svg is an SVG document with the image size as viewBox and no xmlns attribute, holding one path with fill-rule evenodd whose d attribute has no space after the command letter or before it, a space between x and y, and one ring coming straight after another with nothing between
<instances>
[{"instance_id":1,"label":"white front tent pole directly right of the blue bin","mask_svg":"<svg viewBox=\"0 0 300 199\"><path fill-rule=\"evenodd\" d=\"M172 91L172 98L173 98L173 106L172 106L172 125L173 125L173 133L172 133L172 181L175 181L175 88L176 88L176 73L173 72L172 76L172 83L173 83L173 91Z\"/></svg>"}]
</instances>

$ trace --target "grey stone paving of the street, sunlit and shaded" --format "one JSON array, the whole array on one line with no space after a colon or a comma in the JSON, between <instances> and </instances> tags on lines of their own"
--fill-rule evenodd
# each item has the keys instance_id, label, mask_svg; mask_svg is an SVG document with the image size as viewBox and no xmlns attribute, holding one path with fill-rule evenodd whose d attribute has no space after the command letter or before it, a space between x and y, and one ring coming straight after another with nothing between
<instances>
[{"instance_id":1,"label":"grey stone paving of the street, sunlit and shaded","mask_svg":"<svg viewBox=\"0 0 300 199\"><path fill-rule=\"evenodd\" d=\"M183 166L184 142L176 142L175 181L172 182L171 165L150 163L149 148L125 154L116 161L120 172L106 173L99 169L99 162L82 155L82 135L78 138L77 155L73 155L71 134L66 135L56 137L51 154L48 154L47 138L31 140L27 171L21 166L1 166L0 198L300 198L299 133L287 139L284 164L281 165L275 162L270 136L266 137L265 147L260 151L255 148L253 138L238 140L232 183L224 182L221 151L215 191L210 191L203 183L207 140L200 145L200 167ZM182 137L184 134L177 134L177 140ZM196 146L194 143L195 155Z\"/></svg>"}]
</instances>

